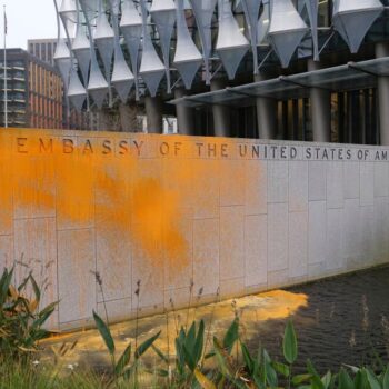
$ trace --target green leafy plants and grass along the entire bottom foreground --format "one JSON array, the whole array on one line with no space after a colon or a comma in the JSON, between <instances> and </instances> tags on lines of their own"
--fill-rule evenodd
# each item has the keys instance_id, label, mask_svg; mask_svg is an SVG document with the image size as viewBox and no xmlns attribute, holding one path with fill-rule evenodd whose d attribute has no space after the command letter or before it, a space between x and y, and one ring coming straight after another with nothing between
<instances>
[{"instance_id":1,"label":"green leafy plants and grass along the entire bottom foreground","mask_svg":"<svg viewBox=\"0 0 389 389\"><path fill-rule=\"evenodd\" d=\"M375 368L340 367L323 376L307 361L303 373L295 375L298 359L298 340L291 321L288 321L282 338L282 360L272 359L266 349L259 346L253 352L245 339L245 328L237 305L232 301L235 319L220 338L212 335L211 321L206 328L203 320L190 318L190 309L182 320L173 309L176 335L174 350L162 352L154 343L160 332L139 341L138 320L136 337L121 355L111 333L108 320L93 312L96 327L110 356L111 366L107 371L93 371L82 367L66 365L63 357L73 345L62 345L51 362L41 362L39 340L48 332L42 326L54 310L56 303L40 309L41 288L29 272L22 283L13 287L13 269L4 270L0 277L0 389L62 389L62 388L172 388L172 389L389 389L389 365L378 358ZM102 279L96 273L97 283L103 296ZM24 292L31 287L33 298ZM136 296L140 296L141 282L137 283ZM197 295L197 302L202 289ZM104 300L104 299L103 299ZM189 306L193 301L193 283L190 283ZM171 306L174 308L173 301ZM362 299L363 328L369 326L369 309ZM383 320L383 319L382 319ZM169 336L169 313L166 312L167 333ZM389 327L389 326L388 326ZM169 339L168 339L169 345ZM315 345L311 346L312 349ZM146 353L153 353L151 366L143 362Z\"/></svg>"}]
</instances>

